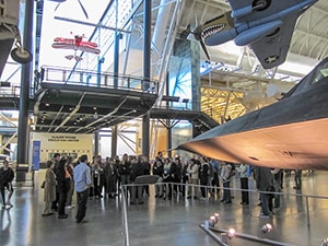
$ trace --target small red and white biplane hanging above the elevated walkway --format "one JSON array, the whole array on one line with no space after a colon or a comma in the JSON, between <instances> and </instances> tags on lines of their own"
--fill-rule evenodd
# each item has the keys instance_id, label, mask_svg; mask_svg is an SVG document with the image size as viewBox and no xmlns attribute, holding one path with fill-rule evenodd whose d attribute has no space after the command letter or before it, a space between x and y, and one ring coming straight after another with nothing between
<instances>
[{"instance_id":1,"label":"small red and white biplane hanging above the elevated walkway","mask_svg":"<svg viewBox=\"0 0 328 246\"><path fill-rule=\"evenodd\" d=\"M67 59L71 60L74 58L77 61L81 61L82 58L77 56L77 50L81 50L84 52L92 52L95 55L99 55L101 50L96 43L93 42L84 42L84 36L75 35L74 38L65 38L65 37L56 37L54 39L52 48L56 49L73 49L74 55L66 56Z\"/></svg>"}]
</instances>

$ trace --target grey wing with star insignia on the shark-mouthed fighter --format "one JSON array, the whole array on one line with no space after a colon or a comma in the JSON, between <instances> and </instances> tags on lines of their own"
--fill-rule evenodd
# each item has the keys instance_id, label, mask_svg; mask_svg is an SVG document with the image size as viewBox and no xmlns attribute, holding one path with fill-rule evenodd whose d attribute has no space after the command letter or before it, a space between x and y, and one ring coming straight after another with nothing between
<instances>
[{"instance_id":1,"label":"grey wing with star insignia on the shark-mouthed fighter","mask_svg":"<svg viewBox=\"0 0 328 246\"><path fill-rule=\"evenodd\" d=\"M285 61L297 17L296 13L286 15L282 20L283 24L271 35L249 44L265 69L277 67Z\"/></svg>"}]
</instances>

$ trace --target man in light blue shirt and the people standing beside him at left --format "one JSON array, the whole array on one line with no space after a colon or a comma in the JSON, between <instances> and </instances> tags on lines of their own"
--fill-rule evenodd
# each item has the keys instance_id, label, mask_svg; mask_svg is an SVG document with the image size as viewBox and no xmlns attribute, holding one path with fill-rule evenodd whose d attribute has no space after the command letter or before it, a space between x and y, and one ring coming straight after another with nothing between
<instances>
[{"instance_id":1,"label":"man in light blue shirt and the people standing beside him at left","mask_svg":"<svg viewBox=\"0 0 328 246\"><path fill-rule=\"evenodd\" d=\"M71 161L55 153L54 159L47 162L43 216L58 212L58 219L67 219L69 215L66 209L72 206L72 196L75 190L78 203L75 222L81 223L86 212L91 172L86 165L87 155L81 155L74 165Z\"/></svg>"}]
</instances>

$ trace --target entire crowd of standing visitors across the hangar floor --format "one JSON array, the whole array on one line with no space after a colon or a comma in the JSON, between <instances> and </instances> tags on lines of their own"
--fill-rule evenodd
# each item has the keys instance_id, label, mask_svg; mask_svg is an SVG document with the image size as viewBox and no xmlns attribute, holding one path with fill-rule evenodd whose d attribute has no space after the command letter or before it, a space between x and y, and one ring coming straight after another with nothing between
<instances>
[{"instance_id":1,"label":"entire crowd of standing visitors across the hangar floor","mask_svg":"<svg viewBox=\"0 0 328 246\"><path fill-rule=\"evenodd\" d=\"M234 164L210 160L203 156L190 157L183 162L180 156L164 157L159 152L153 161L142 155L124 154L121 159L94 156L91 161L81 155L74 162L70 156L55 153L47 162L43 184L45 208L43 216L58 213L58 219L67 219L68 209L74 207L77 195L77 223L84 221L87 200L115 198L120 195L122 186L130 204L143 203L143 197L150 196L149 185L133 185L139 176L156 175L155 198L171 200L175 196L186 199L208 200L213 195L222 197L223 203L232 203L231 181L238 174L242 206L249 204L248 178L253 176L259 190L259 216L270 216L280 208L283 171L278 168ZM295 171L295 189L301 189L302 172ZM10 202L13 194L14 172L8 161L0 168L2 208L13 207ZM5 189L8 198L5 199ZM85 221L84 221L85 222Z\"/></svg>"}]
</instances>

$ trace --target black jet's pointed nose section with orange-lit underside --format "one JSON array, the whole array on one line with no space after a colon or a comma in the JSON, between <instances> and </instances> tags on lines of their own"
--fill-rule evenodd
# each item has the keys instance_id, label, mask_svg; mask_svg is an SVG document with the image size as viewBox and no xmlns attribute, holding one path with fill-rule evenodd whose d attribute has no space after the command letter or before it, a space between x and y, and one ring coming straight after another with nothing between
<instances>
[{"instance_id":1,"label":"black jet's pointed nose section with orange-lit underside","mask_svg":"<svg viewBox=\"0 0 328 246\"><path fill-rule=\"evenodd\" d=\"M177 149L257 166L328 169L328 58L279 102L220 125Z\"/></svg>"}]
</instances>

